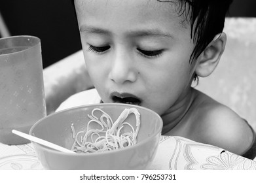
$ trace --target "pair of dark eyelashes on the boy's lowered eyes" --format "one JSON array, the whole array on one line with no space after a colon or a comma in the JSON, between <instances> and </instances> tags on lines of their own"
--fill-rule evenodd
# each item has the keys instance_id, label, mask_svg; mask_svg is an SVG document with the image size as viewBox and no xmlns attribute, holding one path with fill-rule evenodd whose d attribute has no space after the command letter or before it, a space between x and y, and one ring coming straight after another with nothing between
<instances>
[{"instance_id":1,"label":"pair of dark eyelashes on the boy's lowered eyes","mask_svg":"<svg viewBox=\"0 0 256 183\"><path fill-rule=\"evenodd\" d=\"M102 54L103 52L109 50L111 46L92 46L88 48L89 52L95 52L96 54ZM137 48L137 51L141 56L144 56L145 58L156 58L160 56L163 52L163 50L153 50L153 51L148 51L148 50L141 50L140 48Z\"/></svg>"}]
</instances>

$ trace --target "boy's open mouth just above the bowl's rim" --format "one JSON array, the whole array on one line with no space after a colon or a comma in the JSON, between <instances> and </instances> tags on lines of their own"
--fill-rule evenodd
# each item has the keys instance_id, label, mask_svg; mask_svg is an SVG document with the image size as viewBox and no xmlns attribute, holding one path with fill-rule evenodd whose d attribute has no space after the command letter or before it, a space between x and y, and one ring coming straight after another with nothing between
<instances>
[{"instance_id":1,"label":"boy's open mouth just above the bowl's rim","mask_svg":"<svg viewBox=\"0 0 256 183\"><path fill-rule=\"evenodd\" d=\"M112 95L112 100L114 103L126 103L131 105L140 105L141 103L140 99L128 93L115 93Z\"/></svg>"}]
</instances>

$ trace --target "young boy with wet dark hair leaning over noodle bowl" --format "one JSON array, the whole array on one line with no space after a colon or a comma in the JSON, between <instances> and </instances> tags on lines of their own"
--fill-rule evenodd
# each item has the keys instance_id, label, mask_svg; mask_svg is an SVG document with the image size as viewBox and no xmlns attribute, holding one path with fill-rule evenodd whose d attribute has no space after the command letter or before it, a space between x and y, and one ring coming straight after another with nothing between
<instances>
[{"instance_id":1,"label":"young boy with wet dark hair leaning over noodle bowl","mask_svg":"<svg viewBox=\"0 0 256 183\"><path fill-rule=\"evenodd\" d=\"M255 133L247 122L191 87L219 63L231 1L74 2L86 68L96 90L73 95L58 110L100 101L141 105L162 117L162 135L255 157Z\"/></svg>"}]
</instances>

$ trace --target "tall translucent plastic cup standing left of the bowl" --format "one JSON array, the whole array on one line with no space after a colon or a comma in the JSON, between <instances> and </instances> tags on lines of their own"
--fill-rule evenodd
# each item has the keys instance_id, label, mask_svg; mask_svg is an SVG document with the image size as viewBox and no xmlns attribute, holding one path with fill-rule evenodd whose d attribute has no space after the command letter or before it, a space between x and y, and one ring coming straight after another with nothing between
<instances>
[{"instance_id":1,"label":"tall translucent plastic cup standing left of the bowl","mask_svg":"<svg viewBox=\"0 0 256 183\"><path fill-rule=\"evenodd\" d=\"M0 142L30 142L11 131L29 133L46 116L41 41L32 36L0 39Z\"/></svg>"}]
</instances>

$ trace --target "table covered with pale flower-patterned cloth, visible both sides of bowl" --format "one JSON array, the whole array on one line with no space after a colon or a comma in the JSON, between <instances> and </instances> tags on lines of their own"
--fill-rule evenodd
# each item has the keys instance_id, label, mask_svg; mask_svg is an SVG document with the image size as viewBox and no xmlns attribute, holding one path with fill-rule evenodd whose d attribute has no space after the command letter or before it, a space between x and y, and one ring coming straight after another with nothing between
<instances>
[{"instance_id":1,"label":"table covered with pale flower-patterned cloth, visible both sides of bowl","mask_svg":"<svg viewBox=\"0 0 256 183\"><path fill-rule=\"evenodd\" d=\"M0 150L0 169L43 169L31 143L17 146L0 143ZM256 161L183 137L162 136L149 169L256 170Z\"/></svg>"}]
</instances>

